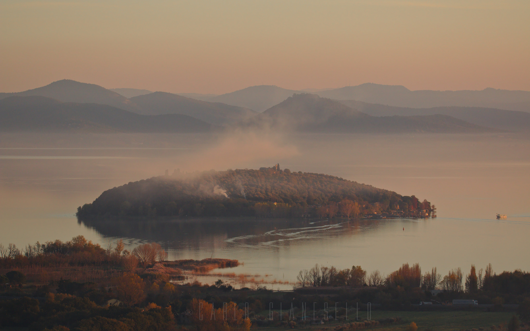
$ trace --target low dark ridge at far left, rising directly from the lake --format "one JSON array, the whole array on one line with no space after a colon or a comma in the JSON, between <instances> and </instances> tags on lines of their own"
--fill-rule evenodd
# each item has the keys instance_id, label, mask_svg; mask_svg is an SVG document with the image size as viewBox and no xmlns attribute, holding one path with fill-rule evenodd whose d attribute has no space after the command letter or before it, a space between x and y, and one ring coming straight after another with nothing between
<instances>
[{"instance_id":1,"label":"low dark ridge at far left, rising directly from the lake","mask_svg":"<svg viewBox=\"0 0 530 331\"><path fill-rule=\"evenodd\" d=\"M212 126L187 115L148 116L95 103L60 102L43 96L0 100L1 131L208 132Z\"/></svg>"}]
</instances>

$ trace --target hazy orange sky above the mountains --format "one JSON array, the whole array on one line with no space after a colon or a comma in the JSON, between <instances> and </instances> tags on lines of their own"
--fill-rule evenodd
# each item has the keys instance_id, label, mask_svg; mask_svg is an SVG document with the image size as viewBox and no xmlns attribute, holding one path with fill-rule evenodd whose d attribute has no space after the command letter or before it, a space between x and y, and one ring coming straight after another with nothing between
<instances>
[{"instance_id":1,"label":"hazy orange sky above the mountains","mask_svg":"<svg viewBox=\"0 0 530 331\"><path fill-rule=\"evenodd\" d=\"M0 31L0 92L530 91L529 0L2 0Z\"/></svg>"}]
</instances>

